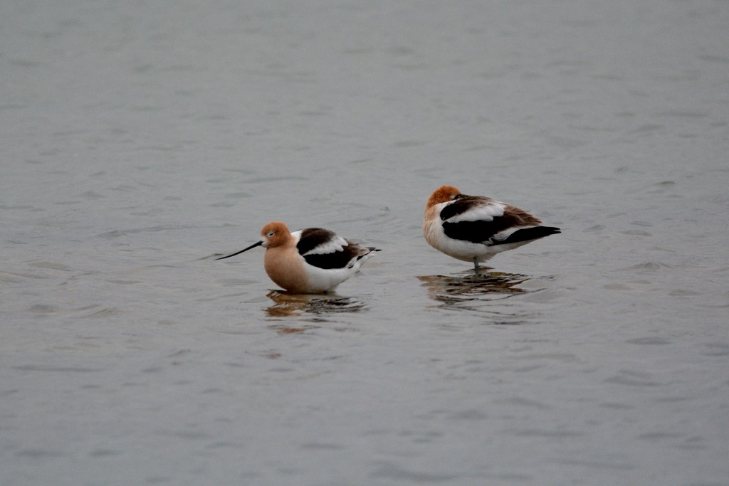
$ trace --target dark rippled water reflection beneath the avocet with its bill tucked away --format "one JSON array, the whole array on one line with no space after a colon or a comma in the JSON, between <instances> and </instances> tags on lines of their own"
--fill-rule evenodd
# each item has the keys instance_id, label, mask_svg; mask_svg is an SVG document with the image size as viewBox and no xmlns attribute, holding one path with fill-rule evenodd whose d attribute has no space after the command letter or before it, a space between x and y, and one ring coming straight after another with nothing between
<instances>
[{"instance_id":1,"label":"dark rippled water reflection beneath the avocet with its bill tucked away","mask_svg":"<svg viewBox=\"0 0 729 486\"><path fill-rule=\"evenodd\" d=\"M507 299L525 292L518 285L530 279L527 275L483 267L480 270L478 273L468 270L454 275L421 275L418 279L428 289L429 297L443 302L446 307L473 300Z\"/></svg>"}]
</instances>

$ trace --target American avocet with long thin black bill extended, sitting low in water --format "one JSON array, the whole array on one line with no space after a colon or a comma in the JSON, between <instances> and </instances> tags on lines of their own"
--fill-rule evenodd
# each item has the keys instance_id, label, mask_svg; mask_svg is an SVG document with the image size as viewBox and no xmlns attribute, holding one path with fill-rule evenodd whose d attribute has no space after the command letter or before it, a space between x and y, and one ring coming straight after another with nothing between
<instances>
[{"instance_id":1,"label":"American avocet with long thin black bill extended, sitting low in water","mask_svg":"<svg viewBox=\"0 0 729 486\"><path fill-rule=\"evenodd\" d=\"M257 246L266 248L263 267L277 285L296 294L321 294L333 290L359 272L359 267L379 248L359 246L322 228L290 232L286 224L270 222L262 240L230 258Z\"/></svg>"}]
</instances>

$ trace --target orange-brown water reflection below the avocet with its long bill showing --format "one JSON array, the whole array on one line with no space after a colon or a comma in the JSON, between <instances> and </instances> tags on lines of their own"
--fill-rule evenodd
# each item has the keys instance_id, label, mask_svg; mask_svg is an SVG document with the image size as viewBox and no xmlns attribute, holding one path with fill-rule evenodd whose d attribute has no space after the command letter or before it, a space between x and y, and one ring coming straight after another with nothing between
<instances>
[{"instance_id":1,"label":"orange-brown water reflection below the avocet with its long bill showing","mask_svg":"<svg viewBox=\"0 0 729 486\"><path fill-rule=\"evenodd\" d=\"M364 309L362 302L352 297L338 295L289 294L285 291L272 290L266 297L273 300L273 305L266 309L266 313L272 318L309 315L313 317L313 321L323 321L324 315L327 314L359 312ZM284 334L301 332L307 328L286 329L290 330Z\"/></svg>"}]
</instances>

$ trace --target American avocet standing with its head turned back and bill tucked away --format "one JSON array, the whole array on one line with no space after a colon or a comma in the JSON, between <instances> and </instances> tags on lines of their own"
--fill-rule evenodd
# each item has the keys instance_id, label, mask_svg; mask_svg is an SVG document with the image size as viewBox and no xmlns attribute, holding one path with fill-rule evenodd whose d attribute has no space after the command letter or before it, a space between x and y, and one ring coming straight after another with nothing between
<instances>
[{"instance_id":1,"label":"American avocet standing with its head turned back and bill tucked away","mask_svg":"<svg viewBox=\"0 0 729 486\"><path fill-rule=\"evenodd\" d=\"M423 234L430 246L453 258L485 262L497 253L554 235L559 228L540 226L542 220L523 209L486 196L467 196L442 186L425 205Z\"/></svg>"}]
</instances>

